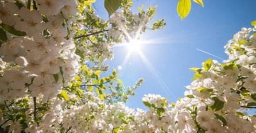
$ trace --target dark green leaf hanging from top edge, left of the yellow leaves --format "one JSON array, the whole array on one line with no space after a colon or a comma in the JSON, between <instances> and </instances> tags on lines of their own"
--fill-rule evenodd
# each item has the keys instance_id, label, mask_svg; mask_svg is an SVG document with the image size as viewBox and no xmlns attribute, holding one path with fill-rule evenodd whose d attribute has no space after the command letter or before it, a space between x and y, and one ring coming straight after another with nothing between
<instances>
[{"instance_id":1,"label":"dark green leaf hanging from top edge, left of the yellow leaves","mask_svg":"<svg viewBox=\"0 0 256 133\"><path fill-rule=\"evenodd\" d=\"M104 7L107 10L108 17L115 13L117 9L121 6L122 0L105 0Z\"/></svg>"}]
</instances>

